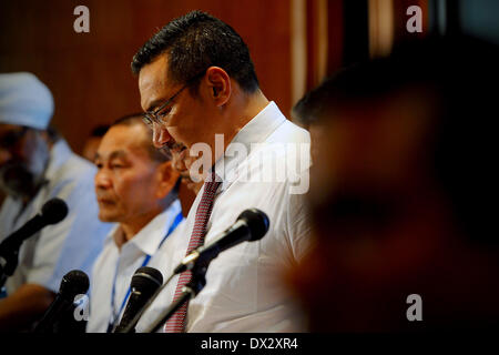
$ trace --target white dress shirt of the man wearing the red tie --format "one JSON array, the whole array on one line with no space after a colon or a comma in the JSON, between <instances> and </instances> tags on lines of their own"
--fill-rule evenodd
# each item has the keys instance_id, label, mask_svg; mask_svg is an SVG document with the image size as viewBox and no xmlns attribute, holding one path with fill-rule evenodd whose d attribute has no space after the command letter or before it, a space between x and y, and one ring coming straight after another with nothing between
<instances>
[{"instance_id":1,"label":"white dress shirt of the man wearing the red tie","mask_svg":"<svg viewBox=\"0 0 499 355\"><path fill-rule=\"evenodd\" d=\"M251 153L233 154L234 146L255 146ZM296 163L297 155L281 149L303 145L304 162L289 176L307 178L309 168L309 134L296 126L271 102L249 121L227 146L225 158L217 161L215 171L225 175L218 187L207 225L205 244L216 240L246 209L265 212L271 226L259 241L245 242L221 253L206 273L206 286L191 300L187 310L187 332L297 332L304 331L302 314L281 282L281 272L301 260L310 246L309 224L304 194L292 194L291 179L283 181L247 181L268 173L265 160L284 162L284 169ZM281 148L279 148L281 146ZM224 165L224 166L223 166ZM283 165L269 168L274 173ZM232 174L232 178L230 178ZM306 176L305 176L306 175ZM305 176L305 178L304 178ZM308 182L308 181L306 181ZM195 213L204 187L197 194L182 231L171 243L160 248L152 261L165 277L185 256L194 226ZM172 302L179 276L153 302L138 324L145 331Z\"/></svg>"}]
</instances>

